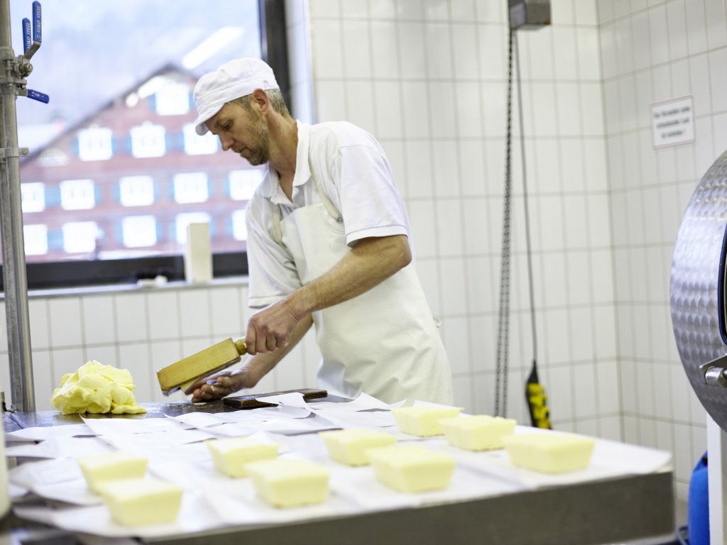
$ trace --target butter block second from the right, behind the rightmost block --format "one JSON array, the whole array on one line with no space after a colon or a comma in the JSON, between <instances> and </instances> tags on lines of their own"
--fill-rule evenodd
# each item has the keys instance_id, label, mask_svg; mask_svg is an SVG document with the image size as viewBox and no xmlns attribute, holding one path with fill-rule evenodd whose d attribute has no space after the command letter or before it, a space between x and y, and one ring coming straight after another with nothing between
<instances>
[{"instance_id":1,"label":"butter block second from the right, behind the rightmost block","mask_svg":"<svg viewBox=\"0 0 727 545\"><path fill-rule=\"evenodd\" d=\"M515 419L504 419L502 416L478 414L460 416L456 419L440 421L447 442L467 451L489 451L502 448L502 437L513 435Z\"/></svg>"}]
</instances>

